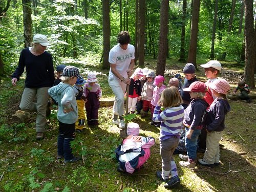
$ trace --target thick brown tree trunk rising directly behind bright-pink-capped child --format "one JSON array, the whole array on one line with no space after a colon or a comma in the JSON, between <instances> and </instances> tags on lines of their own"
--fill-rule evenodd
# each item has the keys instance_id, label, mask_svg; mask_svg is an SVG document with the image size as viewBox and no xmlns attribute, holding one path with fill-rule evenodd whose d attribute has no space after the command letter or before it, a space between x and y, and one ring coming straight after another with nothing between
<instances>
[{"instance_id":1,"label":"thick brown tree trunk rising directly behind bright-pink-capped child","mask_svg":"<svg viewBox=\"0 0 256 192\"><path fill-rule=\"evenodd\" d=\"M160 6L160 35L158 43L157 71L156 75L163 75L165 71L167 32L168 32L168 10L169 0L161 0Z\"/></svg>"}]
</instances>

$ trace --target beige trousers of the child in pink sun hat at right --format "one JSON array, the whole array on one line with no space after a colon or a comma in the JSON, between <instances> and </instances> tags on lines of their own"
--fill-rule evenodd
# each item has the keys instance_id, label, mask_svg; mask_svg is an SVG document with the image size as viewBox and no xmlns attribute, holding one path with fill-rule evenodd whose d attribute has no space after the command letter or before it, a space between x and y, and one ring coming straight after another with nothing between
<instances>
[{"instance_id":1,"label":"beige trousers of the child in pink sun hat at right","mask_svg":"<svg viewBox=\"0 0 256 192\"><path fill-rule=\"evenodd\" d=\"M206 163L214 164L220 162L220 140L222 132L209 132L206 138L206 151L203 160Z\"/></svg>"}]
</instances>

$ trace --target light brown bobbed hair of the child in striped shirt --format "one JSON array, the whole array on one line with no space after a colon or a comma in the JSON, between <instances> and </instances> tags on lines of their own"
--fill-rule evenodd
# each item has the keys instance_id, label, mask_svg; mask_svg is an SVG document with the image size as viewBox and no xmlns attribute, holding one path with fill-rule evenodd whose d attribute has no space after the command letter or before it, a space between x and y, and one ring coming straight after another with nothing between
<instances>
[{"instance_id":1,"label":"light brown bobbed hair of the child in striped shirt","mask_svg":"<svg viewBox=\"0 0 256 192\"><path fill-rule=\"evenodd\" d=\"M165 108L172 108L174 106L180 106L183 103L183 100L180 96L180 92L177 87L170 87L165 90L160 95L159 102Z\"/></svg>"}]
</instances>

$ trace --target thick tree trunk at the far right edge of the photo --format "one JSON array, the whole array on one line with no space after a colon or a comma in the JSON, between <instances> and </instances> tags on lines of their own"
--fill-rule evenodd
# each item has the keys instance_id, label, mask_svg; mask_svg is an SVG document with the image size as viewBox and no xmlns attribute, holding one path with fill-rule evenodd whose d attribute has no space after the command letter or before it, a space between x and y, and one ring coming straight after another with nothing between
<instances>
[{"instance_id":1,"label":"thick tree trunk at the far right edge of the photo","mask_svg":"<svg viewBox=\"0 0 256 192\"><path fill-rule=\"evenodd\" d=\"M255 88L255 38L253 24L253 0L245 0L245 68L244 78L250 88Z\"/></svg>"}]
</instances>

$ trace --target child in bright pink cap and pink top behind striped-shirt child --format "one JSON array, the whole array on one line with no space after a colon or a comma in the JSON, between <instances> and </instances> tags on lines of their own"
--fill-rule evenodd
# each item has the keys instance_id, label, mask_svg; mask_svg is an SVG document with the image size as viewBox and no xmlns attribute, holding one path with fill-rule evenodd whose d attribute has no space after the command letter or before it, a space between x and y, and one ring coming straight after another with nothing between
<instances>
[{"instance_id":1,"label":"child in bright pink cap and pink top behind striped-shirt child","mask_svg":"<svg viewBox=\"0 0 256 192\"><path fill-rule=\"evenodd\" d=\"M157 102L160 98L160 94L162 93L162 91L166 88L166 86L163 84L164 82L164 77L162 75L158 75L156 76L155 80L154 80L154 85L156 86L153 90L153 97L151 100L151 114L153 116L155 107L157 106ZM157 127L160 127L160 123L155 123L154 121L152 121L150 123L151 125L155 125Z\"/></svg>"}]
</instances>

